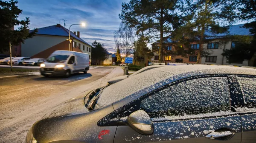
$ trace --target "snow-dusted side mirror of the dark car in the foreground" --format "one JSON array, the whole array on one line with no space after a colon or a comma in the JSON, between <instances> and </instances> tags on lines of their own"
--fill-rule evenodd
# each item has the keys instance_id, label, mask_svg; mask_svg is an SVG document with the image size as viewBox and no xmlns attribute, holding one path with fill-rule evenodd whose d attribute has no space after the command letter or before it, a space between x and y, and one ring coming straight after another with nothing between
<instances>
[{"instance_id":1,"label":"snow-dusted side mirror of the dark car in the foreground","mask_svg":"<svg viewBox=\"0 0 256 143\"><path fill-rule=\"evenodd\" d=\"M142 135L152 135L154 132L153 123L148 113L143 110L138 110L127 118L128 126Z\"/></svg>"}]
</instances>

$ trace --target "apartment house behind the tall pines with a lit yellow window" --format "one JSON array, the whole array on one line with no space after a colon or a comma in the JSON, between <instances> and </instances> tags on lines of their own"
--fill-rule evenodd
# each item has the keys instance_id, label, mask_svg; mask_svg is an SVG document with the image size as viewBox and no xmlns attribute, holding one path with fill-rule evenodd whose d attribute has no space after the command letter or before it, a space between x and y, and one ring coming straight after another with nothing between
<instances>
[{"instance_id":1,"label":"apartment house behind the tall pines with a lit yellow window","mask_svg":"<svg viewBox=\"0 0 256 143\"><path fill-rule=\"evenodd\" d=\"M244 24L240 25L232 25L229 27L228 34L230 35L250 35L250 31L247 28L243 28ZM210 54L207 57L201 57L199 63L200 64L224 64L224 65L237 65L237 66L248 66L248 61L239 61L233 62L231 64L227 63L227 59L221 55L224 49L235 48L236 42L223 39L221 37L227 35L227 33L223 34L212 34L210 31L206 31L205 35L208 36L207 42L203 44L203 48L205 51ZM184 46L184 45L180 45ZM159 48L159 47L158 47ZM199 49L198 42L190 43L190 48L195 49L195 53L197 49ZM187 57L169 55L168 51L175 49L175 42L172 42L171 39L166 39L164 43L164 54L163 54L163 62L181 62L181 63L196 63L197 56L188 55ZM196 54L195 54L196 55ZM159 54L154 52L154 56L151 59L151 62L159 62Z\"/></svg>"}]
</instances>

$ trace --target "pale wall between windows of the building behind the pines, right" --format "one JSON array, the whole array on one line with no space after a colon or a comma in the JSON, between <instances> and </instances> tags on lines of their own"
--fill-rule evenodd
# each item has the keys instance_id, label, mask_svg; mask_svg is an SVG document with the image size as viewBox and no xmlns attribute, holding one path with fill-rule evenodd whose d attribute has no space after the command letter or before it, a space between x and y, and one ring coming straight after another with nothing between
<instances>
[{"instance_id":1,"label":"pale wall between windows of the building behind the pines, right","mask_svg":"<svg viewBox=\"0 0 256 143\"><path fill-rule=\"evenodd\" d=\"M204 43L204 49L211 53L209 56L217 56L216 62L206 62L206 57L201 58L201 64L224 64L224 65L236 65L236 66L248 66L248 61L243 61L242 64L237 63L227 63L227 59L221 55L223 53L224 49L230 49L231 48L231 41L230 42L220 42L220 40L214 40L213 42L219 42L218 49L207 49L207 44Z\"/></svg>"}]
</instances>

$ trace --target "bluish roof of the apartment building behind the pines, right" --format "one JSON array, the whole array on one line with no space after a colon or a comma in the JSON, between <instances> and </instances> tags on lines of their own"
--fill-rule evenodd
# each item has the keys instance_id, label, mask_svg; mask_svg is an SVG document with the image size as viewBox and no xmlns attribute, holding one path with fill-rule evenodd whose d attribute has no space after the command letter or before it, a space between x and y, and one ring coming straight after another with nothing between
<instances>
[{"instance_id":1,"label":"bluish roof of the apartment building behind the pines, right","mask_svg":"<svg viewBox=\"0 0 256 143\"><path fill-rule=\"evenodd\" d=\"M214 34L211 32L211 30L207 30L205 31L205 35L207 36L207 39L216 39L216 38L221 38L223 36L227 36L227 35L251 35L250 34L250 29L249 28L244 28L243 27L244 24L239 24L239 25L231 25L229 26L229 29L227 30L227 32L225 33L221 33L221 34ZM172 43L174 41L172 41L172 39L167 38L165 39L166 43Z\"/></svg>"}]
</instances>

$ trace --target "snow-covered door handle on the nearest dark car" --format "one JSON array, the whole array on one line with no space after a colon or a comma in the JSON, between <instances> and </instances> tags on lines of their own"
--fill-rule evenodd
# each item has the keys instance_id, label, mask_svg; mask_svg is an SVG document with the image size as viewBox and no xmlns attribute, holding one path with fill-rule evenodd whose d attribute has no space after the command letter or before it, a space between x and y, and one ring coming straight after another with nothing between
<instances>
[{"instance_id":1,"label":"snow-covered door handle on the nearest dark car","mask_svg":"<svg viewBox=\"0 0 256 143\"><path fill-rule=\"evenodd\" d=\"M213 140L229 140L231 137L233 137L233 135L235 135L235 132L227 128L222 128L222 129L218 129L216 131L210 132L205 137Z\"/></svg>"}]
</instances>

